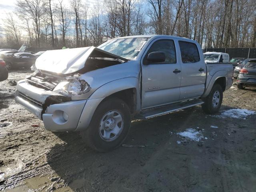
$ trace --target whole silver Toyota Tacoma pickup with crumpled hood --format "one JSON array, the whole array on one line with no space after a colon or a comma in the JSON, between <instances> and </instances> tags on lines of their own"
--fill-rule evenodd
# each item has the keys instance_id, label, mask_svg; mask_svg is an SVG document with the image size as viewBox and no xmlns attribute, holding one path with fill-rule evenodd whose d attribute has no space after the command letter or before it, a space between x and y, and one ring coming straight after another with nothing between
<instances>
[{"instance_id":1,"label":"whole silver Toyota Tacoma pickup with crumpled hood","mask_svg":"<svg viewBox=\"0 0 256 192\"><path fill-rule=\"evenodd\" d=\"M47 130L79 131L95 150L125 140L132 119L202 105L213 114L232 85L232 64L205 64L193 40L128 36L98 47L46 51L17 84L16 103Z\"/></svg>"}]
</instances>

